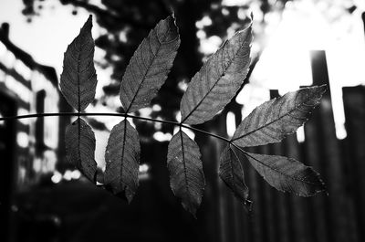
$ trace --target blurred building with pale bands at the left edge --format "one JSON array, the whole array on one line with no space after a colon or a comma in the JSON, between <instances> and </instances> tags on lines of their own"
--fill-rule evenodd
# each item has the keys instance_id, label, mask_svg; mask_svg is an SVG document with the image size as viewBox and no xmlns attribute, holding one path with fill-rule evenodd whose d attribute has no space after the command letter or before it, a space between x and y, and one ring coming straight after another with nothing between
<instances>
[{"instance_id":1,"label":"blurred building with pale bands at the left edge","mask_svg":"<svg viewBox=\"0 0 365 242\"><path fill-rule=\"evenodd\" d=\"M57 112L56 70L37 63L0 28L0 117ZM13 195L55 169L58 117L0 122L1 220L8 224ZM3 214L4 213L4 214ZM3 229L2 229L3 230ZM6 229L5 229L6 231Z\"/></svg>"}]
</instances>

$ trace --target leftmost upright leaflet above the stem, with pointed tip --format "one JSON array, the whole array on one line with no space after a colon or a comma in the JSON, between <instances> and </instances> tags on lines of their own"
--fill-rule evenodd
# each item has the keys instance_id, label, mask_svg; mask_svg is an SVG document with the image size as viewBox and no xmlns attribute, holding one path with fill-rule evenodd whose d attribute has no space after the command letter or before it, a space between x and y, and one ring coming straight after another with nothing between
<instances>
[{"instance_id":1,"label":"leftmost upright leaflet above the stem, with pointed tip","mask_svg":"<svg viewBox=\"0 0 365 242\"><path fill-rule=\"evenodd\" d=\"M78 37L68 46L63 59L60 89L69 105L85 110L95 98L97 74L94 67L94 39L91 37L92 16Z\"/></svg>"}]
</instances>

